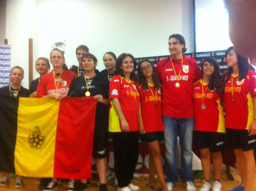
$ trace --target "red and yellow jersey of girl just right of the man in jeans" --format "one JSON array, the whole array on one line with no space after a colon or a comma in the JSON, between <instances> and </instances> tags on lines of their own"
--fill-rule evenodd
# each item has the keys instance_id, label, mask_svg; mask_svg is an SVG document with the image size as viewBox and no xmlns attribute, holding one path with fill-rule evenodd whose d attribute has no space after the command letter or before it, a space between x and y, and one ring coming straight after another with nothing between
<instances>
[{"instance_id":1,"label":"red and yellow jersey of girl just right of the man in jeans","mask_svg":"<svg viewBox=\"0 0 256 191\"><path fill-rule=\"evenodd\" d=\"M205 109L201 108L203 104L203 90L204 88L204 105ZM195 129L196 131L204 132L220 132L225 133L225 119L223 114L223 107L221 103L222 95L210 90L204 84L202 79L194 83L193 98L195 108Z\"/></svg>"}]
</instances>

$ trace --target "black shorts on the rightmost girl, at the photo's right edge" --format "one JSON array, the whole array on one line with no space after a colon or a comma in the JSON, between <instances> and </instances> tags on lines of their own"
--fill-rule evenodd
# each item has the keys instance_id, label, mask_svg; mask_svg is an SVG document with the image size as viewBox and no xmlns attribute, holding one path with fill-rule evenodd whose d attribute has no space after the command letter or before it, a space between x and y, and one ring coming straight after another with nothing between
<instances>
[{"instance_id":1,"label":"black shorts on the rightmost girl, at the photo's right edge","mask_svg":"<svg viewBox=\"0 0 256 191\"><path fill-rule=\"evenodd\" d=\"M232 149L248 151L256 148L256 135L249 136L246 129L226 128L228 144Z\"/></svg>"}]
</instances>

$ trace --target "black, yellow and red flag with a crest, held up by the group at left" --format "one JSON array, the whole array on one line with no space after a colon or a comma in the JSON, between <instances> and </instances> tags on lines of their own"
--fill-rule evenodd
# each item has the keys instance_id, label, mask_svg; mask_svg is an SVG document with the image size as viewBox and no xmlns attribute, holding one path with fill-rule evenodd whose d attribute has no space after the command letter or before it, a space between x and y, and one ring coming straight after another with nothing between
<instances>
[{"instance_id":1,"label":"black, yellow and red flag with a crest, held up by the group at left","mask_svg":"<svg viewBox=\"0 0 256 191\"><path fill-rule=\"evenodd\" d=\"M0 171L26 177L91 178L94 97L0 96Z\"/></svg>"}]
</instances>

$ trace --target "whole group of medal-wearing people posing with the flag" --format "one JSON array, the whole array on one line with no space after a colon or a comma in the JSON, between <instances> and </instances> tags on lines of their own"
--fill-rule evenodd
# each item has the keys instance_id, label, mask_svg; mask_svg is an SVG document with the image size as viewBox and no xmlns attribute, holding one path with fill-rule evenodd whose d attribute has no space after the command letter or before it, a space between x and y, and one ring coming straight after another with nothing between
<instances>
[{"instance_id":1,"label":"whole group of medal-wearing people posing with the flag","mask_svg":"<svg viewBox=\"0 0 256 191\"><path fill-rule=\"evenodd\" d=\"M179 177L176 147L181 148L180 178L187 191L196 191L192 176L192 139L201 154L204 184L200 191L221 190L221 151L234 149L241 184L234 190L251 191L255 174L253 148L256 147L256 73L248 59L234 46L226 51L228 72L222 76L214 57L206 57L201 69L186 57L185 39L180 34L169 37L170 57L157 67L149 60L138 65L131 54L104 54L105 70L99 72L97 58L87 46L76 49L79 65L63 69L65 57L59 49L50 53L53 70L47 58L40 57L36 69L40 77L23 88L24 70L13 67L9 86L0 88L1 95L14 97L54 98L65 96L97 99L92 156L99 174L99 190L112 173L107 166L107 139L110 132L114 145L115 176L118 191L137 191L131 182L138 160L138 139L149 147L149 183L152 190L171 191ZM49 73L48 73L49 72ZM224 107L225 106L225 116ZM227 137L227 138L226 138ZM161 163L159 141L165 139L165 176ZM214 180L211 182L211 162ZM161 188L154 182L157 174ZM6 178L7 177L7 178ZM22 181L20 177L19 180ZM3 175L1 186L8 176ZM77 182L77 181L76 181ZM22 183L22 182L21 182ZM20 183L20 184L21 184ZM87 179L70 180L68 191L83 191ZM40 187L41 186L41 187ZM42 179L40 188L58 187L57 177Z\"/></svg>"}]
</instances>

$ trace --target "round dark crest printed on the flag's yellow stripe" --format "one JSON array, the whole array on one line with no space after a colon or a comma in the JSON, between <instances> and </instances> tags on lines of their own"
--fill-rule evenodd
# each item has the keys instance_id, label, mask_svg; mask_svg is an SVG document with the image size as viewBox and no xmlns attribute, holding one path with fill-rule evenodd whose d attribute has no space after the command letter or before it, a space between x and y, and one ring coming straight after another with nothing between
<instances>
[{"instance_id":1,"label":"round dark crest printed on the flag's yellow stripe","mask_svg":"<svg viewBox=\"0 0 256 191\"><path fill-rule=\"evenodd\" d=\"M28 141L32 149L38 150L44 146L45 137L41 135L39 126L34 127L32 134L29 134Z\"/></svg>"}]
</instances>

